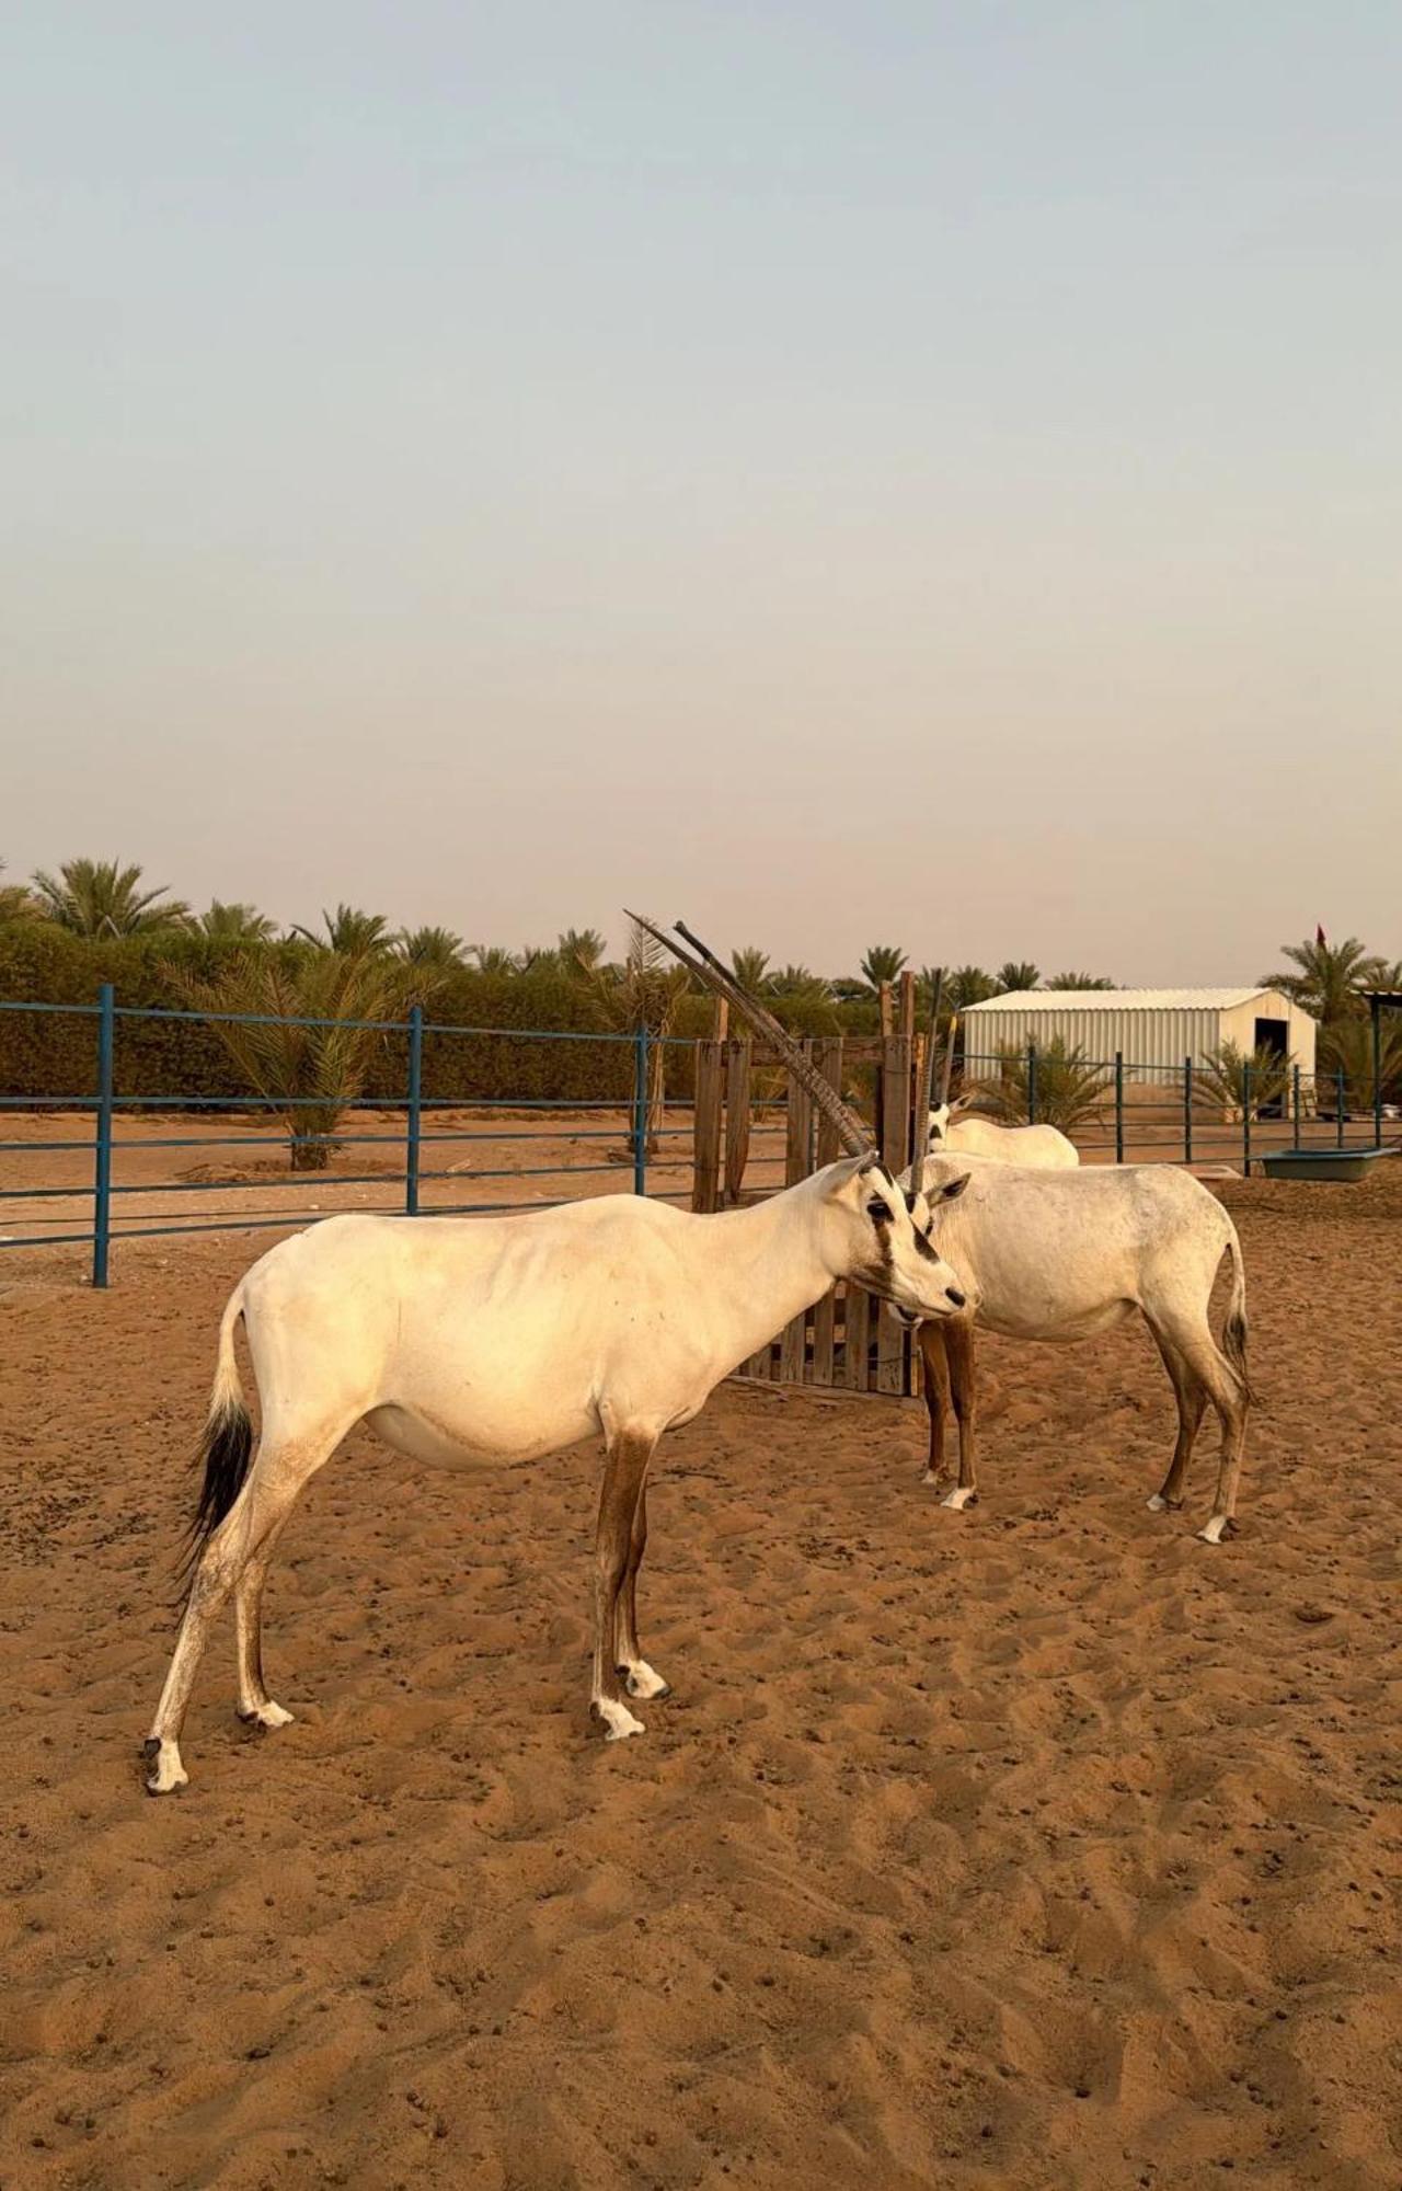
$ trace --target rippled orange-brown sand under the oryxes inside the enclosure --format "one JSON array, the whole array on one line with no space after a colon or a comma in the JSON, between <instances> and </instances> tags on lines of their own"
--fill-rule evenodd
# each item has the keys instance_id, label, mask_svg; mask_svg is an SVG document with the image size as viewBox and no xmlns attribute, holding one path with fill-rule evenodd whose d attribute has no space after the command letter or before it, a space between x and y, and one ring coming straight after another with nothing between
<instances>
[{"instance_id":1,"label":"rippled orange-brown sand under the oryxes inside the enclosure","mask_svg":"<svg viewBox=\"0 0 1402 2191\"><path fill-rule=\"evenodd\" d=\"M644 1740L587 1731L589 1448L364 1433L274 1571L296 1724L140 1794L215 1323L256 1244L0 1258L4 2191L1395 2191L1402 1185L1233 1185L1242 1536L1128 1328L988 1343L984 1503L909 1402L664 1446ZM68 1262L74 1251L68 1251ZM1214 1446L1216 1442L1205 1442Z\"/></svg>"}]
</instances>

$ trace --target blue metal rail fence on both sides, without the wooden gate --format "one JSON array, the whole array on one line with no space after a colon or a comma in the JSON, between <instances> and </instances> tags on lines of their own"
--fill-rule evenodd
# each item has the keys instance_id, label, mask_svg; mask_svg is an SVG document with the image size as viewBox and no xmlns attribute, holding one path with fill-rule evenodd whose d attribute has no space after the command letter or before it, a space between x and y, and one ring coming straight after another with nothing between
<instances>
[{"instance_id":1,"label":"blue metal rail fence on both sides, without the wooden gate","mask_svg":"<svg viewBox=\"0 0 1402 2191\"><path fill-rule=\"evenodd\" d=\"M35 1098L33 1093L0 1096L0 1124L7 1115L15 1113L61 1113L64 1117L74 1117L92 1122L81 1137L59 1137L59 1139L4 1139L0 1133L0 1205L18 1205L22 1212L33 1212L31 1225L22 1227L18 1234L0 1231L0 1247L72 1247L85 1244L92 1255L92 1284L105 1286L110 1277L112 1244L120 1240L136 1238L158 1238L177 1234L217 1234L217 1231L258 1231L258 1229L289 1229L294 1225L320 1223L322 1216L337 1214L335 1209L320 1207L320 1203L309 1203L307 1198L318 1190L324 1194L333 1190L340 1194L346 1188L383 1190L390 1201L379 1201L375 1207L403 1212L405 1216L467 1216L467 1214L489 1214L521 1207L548 1207L552 1201L563 1201L574 1183L589 1179L613 1179L622 1183L631 1168L631 1188L635 1194L648 1194L664 1201L690 1201L690 1159L694 1142L694 1120L690 1115L690 1102L677 1100L675 1093L666 1096L666 1120L655 1122L651 1117L653 1096L648 1082L653 1078L653 1060L657 1047L664 1052L664 1078L668 1067L668 1056L679 1052L692 1052L688 1039L666 1039L659 1043L646 1030L624 1032L624 1034L598 1034L594 1030L528 1030L528 1028L449 1028L429 1023L423 1010L416 1006L405 1021L315 1021L298 1019L285 1021L265 1014L215 1014L215 1012L182 1012L169 1008L129 1008L118 1006L112 986L99 990L94 1003L11 1003L0 1001L0 1056L4 1045L7 1025L15 1025L13 1014L68 1014L90 1030L92 1047L90 1056L90 1091L88 1093L57 1093ZM340 1111L333 1131L318 1131L315 1122L309 1120L307 1128L298 1126L298 1117L307 1113L326 1113L329 1098L324 1093L309 1096L208 1096L208 1093L156 1093L151 1089L127 1091L120 1087L120 1039L123 1030L140 1021L195 1021L204 1025L237 1023L250 1028L357 1028L361 1032L379 1034L403 1043L405 1071L403 1087L399 1093L375 1093L361 1096L346 1104L333 1104ZM482 1098L473 1093L458 1096L429 1096L425 1091L425 1039L434 1036L438 1043L519 1043L519 1045L561 1045L561 1043L589 1043L605 1054L602 1080L616 1085L613 1096L504 1096L504 1098ZM1005 1056L984 1058L966 1056L964 1085L992 1089L997 1082L1005 1085L1010 1060ZM131 1056L127 1054L127 1067L131 1069ZM1030 1047L1023 1058L1016 1060L1016 1071L1021 1076L1023 1089L1023 1113L1030 1122L1038 1122L1038 1113L1047 1102L1056 1102L1056 1071L1058 1067L1049 1056L1038 1056L1036 1047ZM1279 1148L1349 1148L1349 1146L1376 1146L1382 1142L1384 1120L1389 1106L1382 1100L1382 1078L1378 1056L1374 1058L1374 1074L1367 1089L1347 1082L1345 1074L1301 1074L1299 1067L1290 1067L1284 1076L1277 1076L1268 1089L1253 1089L1251 1067L1246 1067L1242 1082L1222 1091L1203 1067L1194 1069L1194 1060L1185 1058L1183 1065L1168 1074L1161 1067L1135 1067L1117 1054L1113 1060L1102 1065L1084 1067L1093 1076L1093 1087L1089 1091L1089 1102L1082 1115L1071 1126L1071 1137L1076 1139L1080 1152L1089 1161L1115 1161L1115 1163L1214 1163L1225 1161L1233 1168L1240 1163L1249 1170L1253 1161ZM85 1076L88 1078L88 1076ZM530 1078L530 1076L528 1076ZM677 1078L677 1076L675 1076ZM541 1076L535 1074L535 1085ZM160 1133L160 1135L129 1135L123 1133L127 1120L151 1113L173 1113L175 1124L184 1122L184 1131ZM392 1131L359 1131L361 1122L368 1124L366 1113L379 1113L381 1117L390 1113ZM399 1120L397 1113L403 1117ZM462 1117L451 1113L471 1113L471 1122L464 1124ZM605 1117L613 1113L613 1120L605 1124ZM782 1124L780 1109L778 1124L756 1124L751 1131L756 1139L771 1137L784 1142L786 1128ZM234 1120L252 1117L272 1122L278 1117L280 1131L276 1142L269 1133L256 1135L248 1126L234 1131L191 1131L191 1120L212 1117L219 1126ZM502 1124L495 1124L495 1120ZM528 1124L506 1124L506 1120L526 1120ZM596 1120L589 1124L587 1120ZM447 1152L449 1144L467 1144L469 1150L475 1144L530 1144L550 1139L550 1128L554 1137L563 1131L572 1144L587 1144L583 1148L585 1161L545 1161L545 1163L484 1163L484 1166L443 1166L440 1157ZM618 1146L620 1139L627 1146ZM686 1144L673 1155L673 1166L681 1163L688 1170L686 1185L664 1185L657 1177L648 1179L648 1148L651 1144ZM616 1144L611 1159L589 1161L596 1150L602 1157L605 1150L598 1144ZM333 1170L287 1170L283 1177L263 1181L239 1181L239 1179L145 1179L131 1181L123 1179L123 1155L134 1148L142 1150L199 1150L208 1155L210 1150L239 1148L239 1150L267 1150L278 1146L291 1157L291 1150L307 1155L311 1148L394 1148L397 1161L390 1170L383 1166L379 1170L359 1168L350 1172ZM528 1159L532 1150L521 1148ZM554 1157L554 1152L550 1152ZM74 1177L70 1179L39 1179L33 1177L11 1183L20 1177L20 1168L9 1166L9 1157L35 1159L35 1157L88 1157L88 1166L68 1166ZM666 1150L659 1152L659 1163L668 1157ZM762 1177L754 1179L747 1172L749 1185L760 1190L780 1185L784 1177L784 1155L756 1152L756 1172L769 1174L778 1172L778 1179ZM375 1159L366 1159L375 1163ZM230 1163L230 1170L237 1166ZM554 1181L563 1192L541 1196L539 1201L521 1203L521 1198L469 1198L456 1201L447 1198L445 1188L449 1181L471 1183L478 1190L491 1190L499 1181ZM291 1190L291 1194L289 1194ZM427 1190L427 1192L425 1192ZM300 1203L298 1203L300 1192ZM217 1207L208 1218L202 1218L202 1203L186 1205L177 1201L171 1209L166 1198L184 1196L208 1196L228 1194L234 1196L234 1205ZM248 1207L243 1196L248 1194L269 1194L276 1207ZM158 1209L147 1209L145 1216L138 1207L129 1205L127 1196L145 1196L147 1203L158 1203ZM285 1198L287 1196L287 1198ZM46 1205L46 1207L35 1207ZM125 1209L131 1209L129 1220L123 1218ZM184 1209L188 1207L188 1216ZM366 1207L364 1203L342 1207ZM0 1214L2 1207L0 1207Z\"/></svg>"}]
</instances>

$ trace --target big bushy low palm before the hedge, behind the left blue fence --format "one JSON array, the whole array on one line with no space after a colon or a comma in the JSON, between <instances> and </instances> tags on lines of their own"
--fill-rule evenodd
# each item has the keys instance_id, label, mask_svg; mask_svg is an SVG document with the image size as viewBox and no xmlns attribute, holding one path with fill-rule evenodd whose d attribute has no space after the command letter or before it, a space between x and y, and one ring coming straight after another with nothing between
<instances>
[{"instance_id":1,"label":"big bushy low palm before the hedge, behind the left blue fence","mask_svg":"<svg viewBox=\"0 0 1402 2191\"><path fill-rule=\"evenodd\" d=\"M258 1096L285 1104L294 1172L326 1170L342 1113L383 1045L353 1021L399 1019L421 997L418 968L366 951L241 951L215 979L180 966L166 977L197 1012L241 1014L212 1019L210 1032Z\"/></svg>"}]
</instances>

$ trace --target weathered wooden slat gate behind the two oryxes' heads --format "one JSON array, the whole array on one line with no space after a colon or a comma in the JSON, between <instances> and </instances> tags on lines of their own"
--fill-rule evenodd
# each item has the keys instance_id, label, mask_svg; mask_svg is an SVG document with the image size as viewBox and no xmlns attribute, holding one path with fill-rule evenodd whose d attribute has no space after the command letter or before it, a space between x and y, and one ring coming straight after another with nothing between
<instances>
[{"instance_id":1,"label":"weathered wooden slat gate behind the two oryxes' heads","mask_svg":"<svg viewBox=\"0 0 1402 2191\"><path fill-rule=\"evenodd\" d=\"M892 1028L889 1003L883 1023ZM802 1049L854 1109L874 1117L883 1163L903 1172L916 1152L924 1036L913 1034L913 982L900 990L900 1032L819 1036ZM778 1144L782 1142L782 1155ZM773 1144L769 1152L762 1144ZM719 1034L697 1043L692 1209L762 1201L841 1157L837 1128L762 1043ZM751 1354L740 1376L832 1391L913 1393L920 1350L881 1304L846 1280Z\"/></svg>"}]
</instances>

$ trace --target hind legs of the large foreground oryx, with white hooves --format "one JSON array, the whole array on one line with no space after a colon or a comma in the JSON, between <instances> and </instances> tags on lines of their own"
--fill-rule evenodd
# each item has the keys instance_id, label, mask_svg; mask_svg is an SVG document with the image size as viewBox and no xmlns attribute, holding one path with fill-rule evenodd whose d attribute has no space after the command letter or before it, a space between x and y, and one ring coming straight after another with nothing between
<instances>
[{"instance_id":1,"label":"hind legs of the large foreground oryx, with white hooves","mask_svg":"<svg viewBox=\"0 0 1402 2191\"><path fill-rule=\"evenodd\" d=\"M342 1415L335 1422L322 1422L315 1431L307 1429L296 1435L287 1433L276 1422L265 1422L248 1481L228 1514L210 1532L208 1542L195 1562L184 1619L180 1624L175 1654L171 1659L171 1672L166 1674L164 1689L160 1691L160 1702L147 1737L147 1757L151 1759L147 1788L151 1794L169 1794L171 1788L184 1788L188 1779L180 1757L180 1731L184 1727L191 1689L195 1687L195 1674L199 1670L199 1661L204 1659L210 1628L219 1617L223 1602L230 1591L239 1586L252 1562L263 1560L263 1567L267 1564L272 1545L291 1514L300 1492L318 1468L331 1459L353 1420L357 1418L353 1415L346 1420ZM261 1580L254 1588L261 1591ZM245 1602L239 1634L241 1702L245 1696L252 1698L256 1694L248 1687L248 1667L243 1659L245 1637L252 1632L250 1604ZM261 1676L256 1689L261 1689ZM272 1707L267 1718L258 1711L250 1713L250 1718L258 1718L261 1724L285 1727L291 1718L291 1713L272 1705L267 1691L261 1691L261 1702Z\"/></svg>"}]
</instances>

